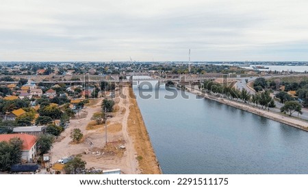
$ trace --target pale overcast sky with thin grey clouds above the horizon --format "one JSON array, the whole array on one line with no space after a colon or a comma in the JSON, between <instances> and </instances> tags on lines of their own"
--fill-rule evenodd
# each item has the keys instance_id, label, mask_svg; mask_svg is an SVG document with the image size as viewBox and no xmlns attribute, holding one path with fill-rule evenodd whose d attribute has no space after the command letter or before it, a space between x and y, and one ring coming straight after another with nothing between
<instances>
[{"instance_id":1,"label":"pale overcast sky with thin grey clouds above the horizon","mask_svg":"<svg viewBox=\"0 0 308 188\"><path fill-rule=\"evenodd\" d=\"M1 0L0 61L307 61L307 0Z\"/></svg>"}]
</instances>

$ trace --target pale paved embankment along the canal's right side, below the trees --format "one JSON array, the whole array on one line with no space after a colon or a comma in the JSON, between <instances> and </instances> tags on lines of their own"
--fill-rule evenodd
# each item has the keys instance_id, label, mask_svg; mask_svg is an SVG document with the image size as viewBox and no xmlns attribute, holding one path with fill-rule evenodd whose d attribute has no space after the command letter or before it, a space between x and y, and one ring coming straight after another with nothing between
<instances>
[{"instance_id":1,"label":"pale paved embankment along the canal's right side, below the trees","mask_svg":"<svg viewBox=\"0 0 308 188\"><path fill-rule=\"evenodd\" d=\"M214 95L209 95L208 93L202 93L198 89L193 89L193 90L194 91L192 91L191 88L187 88L186 91L189 91L190 93L193 93L193 94L201 96L201 97L205 97L207 99L214 100L216 102L220 102L222 104L227 104L229 106L233 106L235 108L245 110L245 111L247 111L249 113L253 113L255 115L259 115L259 116L262 116L262 117L266 117L268 119L272 119L274 121L286 124L288 126L292 126L292 127L295 127L295 128L299 128L301 130L308 131L308 122L307 121L295 119L295 118L292 118L292 117L286 117L286 116L281 115L279 113L274 113L272 111L259 109L256 106L251 106L251 105L248 105L248 104L242 104L240 102L235 102L233 100L226 99L226 98L216 97Z\"/></svg>"}]
</instances>

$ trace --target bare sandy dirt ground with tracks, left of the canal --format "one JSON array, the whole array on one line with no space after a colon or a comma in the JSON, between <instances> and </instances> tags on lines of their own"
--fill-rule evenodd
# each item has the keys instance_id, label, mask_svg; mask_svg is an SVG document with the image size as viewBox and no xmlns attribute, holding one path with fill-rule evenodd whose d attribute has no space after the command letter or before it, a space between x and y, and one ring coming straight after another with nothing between
<instances>
[{"instance_id":1,"label":"bare sandy dirt ground with tracks, left of the canal","mask_svg":"<svg viewBox=\"0 0 308 188\"><path fill-rule=\"evenodd\" d=\"M121 90L123 90L124 95L128 96L129 86L124 86ZM138 106L136 106L136 99L133 99L135 100L133 102L129 97L125 99L118 95L116 96L116 110L112 113L112 117L107 119L107 145L105 145L105 125L93 126L93 121L91 120L92 115L101 110L102 100L95 99L95 101L90 102L90 105L84 107L81 111L80 118L76 117L70 120L68 128L62 132L60 139L58 139L59 141L53 144L50 152L52 163L56 163L60 158L79 154L86 161L87 168L119 168L123 174L159 174L158 163L142 116L140 111L136 111L137 109L139 110ZM134 113L130 113L132 108ZM139 115L136 115L136 113L139 113ZM135 117L136 120L133 120ZM145 134L136 132L136 128L132 128L133 125L128 124L128 121L137 122L138 129L141 129ZM88 126L89 122L92 122L90 126ZM70 132L74 128L79 128L84 134L79 143L72 143L70 138ZM140 138L135 134L144 135ZM136 150L140 152L140 148L143 148L142 150L144 151L139 154Z\"/></svg>"}]
</instances>

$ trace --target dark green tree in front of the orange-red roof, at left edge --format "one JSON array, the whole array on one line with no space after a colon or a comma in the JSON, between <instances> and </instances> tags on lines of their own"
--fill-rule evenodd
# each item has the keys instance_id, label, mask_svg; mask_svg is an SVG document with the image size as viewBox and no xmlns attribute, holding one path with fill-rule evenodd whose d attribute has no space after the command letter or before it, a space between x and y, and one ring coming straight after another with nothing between
<instances>
[{"instance_id":1,"label":"dark green tree in front of the orange-red roof, at left edge","mask_svg":"<svg viewBox=\"0 0 308 188\"><path fill-rule=\"evenodd\" d=\"M21 163L23 141L18 138L0 142L0 171L10 169L16 163Z\"/></svg>"}]
</instances>

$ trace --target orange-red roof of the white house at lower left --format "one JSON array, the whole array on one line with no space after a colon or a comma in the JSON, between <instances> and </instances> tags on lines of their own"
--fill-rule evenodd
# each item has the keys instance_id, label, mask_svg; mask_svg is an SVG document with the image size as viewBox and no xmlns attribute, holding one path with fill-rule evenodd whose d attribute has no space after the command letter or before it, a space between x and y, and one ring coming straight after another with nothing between
<instances>
[{"instance_id":1,"label":"orange-red roof of the white house at lower left","mask_svg":"<svg viewBox=\"0 0 308 188\"><path fill-rule=\"evenodd\" d=\"M30 134L0 134L0 141L10 141L15 137L23 141L23 150L30 150L36 144L36 137Z\"/></svg>"}]
</instances>

